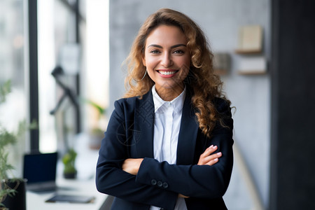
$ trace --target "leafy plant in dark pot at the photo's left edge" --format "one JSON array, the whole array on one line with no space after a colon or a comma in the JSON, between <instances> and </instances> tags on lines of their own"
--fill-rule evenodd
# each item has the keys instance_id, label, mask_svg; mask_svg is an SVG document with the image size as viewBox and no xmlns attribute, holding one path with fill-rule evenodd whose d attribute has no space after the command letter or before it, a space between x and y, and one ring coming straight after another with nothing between
<instances>
[{"instance_id":1,"label":"leafy plant in dark pot at the photo's left edge","mask_svg":"<svg viewBox=\"0 0 315 210\"><path fill-rule=\"evenodd\" d=\"M0 104L6 102L10 93L10 80L0 85ZM0 124L0 209L26 209L25 180L13 178L13 165L8 161L9 149L22 137L29 128L36 127L32 123L29 127L25 120L18 123L18 129L9 131Z\"/></svg>"}]
</instances>

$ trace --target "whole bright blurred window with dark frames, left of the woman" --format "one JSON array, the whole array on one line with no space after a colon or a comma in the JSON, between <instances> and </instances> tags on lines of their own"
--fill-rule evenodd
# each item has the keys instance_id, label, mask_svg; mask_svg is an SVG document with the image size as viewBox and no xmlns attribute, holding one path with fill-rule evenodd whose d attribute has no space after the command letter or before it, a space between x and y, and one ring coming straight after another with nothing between
<instances>
[{"instance_id":1,"label":"whole bright blurred window with dark frames, left of the woman","mask_svg":"<svg viewBox=\"0 0 315 210\"><path fill-rule=\"evenodd\" d=\"M28 5L30 2L31 6ZM79 17L76 16L77 2L80 3ZM29 13L27 9L30 10ZM39 140L31 138L30 142L23 144L20 154L29 152L31 148L37 150L38 143L39 151L42 153L63 150L65 139L71 141L76 136L78 128L81 132L87 132L93 125L94 120L91 119L91 116L95 116L91 111L93 108L80 102L80 99L78 99L79 111L71 104L69 97L66 97L60 103L59 109L53 115L50 114L64 94L64 90L52 76L52 71L60 65L60 55L66 45L79 42L78 66L80 67L78 74L65 73L59 80L69 87L73 94L79 92L81 98L90 99L102 106L108 105L108 9L109 1L103 0L88 3L85 0L0 1L0 83L11 80L14 105L10 106L12 113L6 111L6 115L0 115L0 123L2 119L28 120L29 114L32 115L34 110L37 116L37 107L29 103L38 106ZM87 13L90 18L85 17ZM29 22L29 14L37 15L37 22L32 21L32 18ZM80 20L78 25L77 20ZM28 24L33 28L28 29ZM29 33L35 36L29 36ZM35 45L37 47L34 47ZM33 47L35 53L32 50L29 52L29 48ZM34 59L29 61L31 57ZM31 64L36 64L36 67L29 68ZM30 78L31 82L29 82ZM35 99L34 95L36 95ZM13 116L8 117L11 114ZM83 120L78 120L78 115ZM103 123L102 126L105 130L104 124L106 125Z\"/></svg>"}]
</instances>

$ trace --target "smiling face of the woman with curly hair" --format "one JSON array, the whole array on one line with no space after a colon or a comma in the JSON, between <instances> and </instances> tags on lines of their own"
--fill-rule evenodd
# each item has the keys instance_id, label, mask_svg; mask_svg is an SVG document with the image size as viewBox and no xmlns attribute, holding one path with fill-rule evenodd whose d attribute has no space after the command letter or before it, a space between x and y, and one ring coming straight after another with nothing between
<instances>
[{"instance_id":1,"label":"smiling face of the woman with curly hair","mask_svg":"<svg viewBox=\"0 0 315 210\"><path fill-rule=\"evenodd\" d=\"M143 64L155 82L160 97L172 90L176 95L183 91L183 80L188 75L190 51L181 29L160 25L146 38Z\"/></svg>"}]
</instances>

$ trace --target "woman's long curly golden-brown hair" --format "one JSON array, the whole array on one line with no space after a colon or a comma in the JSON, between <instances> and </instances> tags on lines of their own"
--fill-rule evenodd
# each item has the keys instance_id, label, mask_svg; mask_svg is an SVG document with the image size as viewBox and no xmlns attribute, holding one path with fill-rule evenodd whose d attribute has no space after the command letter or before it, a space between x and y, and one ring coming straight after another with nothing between
<instances>
[{"instance_id":1,"label":"woman's long curly golden-brown hair","mask_svg":"<svg viewBox=\"0 0 315 210\"><path fill-rule=\"evenodd\" d=\"M146 74L146 66L142 63L142 56L146 45L148 34L159 25L172 25L179 27L185 34L190 50L190 70L184 83L193 90L192 102L197 109L196 116L199 127L204 134L211 137L216 122L223 125L216 106L215 97L226 99L222 92L221 79L214 73L213 54L209 48L209 43L204 32L187 15L169 8L162 8L150 15L144 25L139 29L139 33L132 44L130 54L125 63L128 74L125 78L127 92L125 97L142 97L154 85L153 80ZM224 125L223 125L224 126Z\"/></svg>"}]
</instances>

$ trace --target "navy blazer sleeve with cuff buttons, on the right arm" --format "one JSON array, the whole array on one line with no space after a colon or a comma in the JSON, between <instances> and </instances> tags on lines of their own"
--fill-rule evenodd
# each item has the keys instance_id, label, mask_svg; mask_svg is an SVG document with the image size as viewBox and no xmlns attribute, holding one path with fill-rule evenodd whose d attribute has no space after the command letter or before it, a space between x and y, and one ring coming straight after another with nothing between
<instances>
[{"instance_id":1,"label":"navy blazer sleeve with cuff buttons, on the right arm","mask_svg":"<svg viewBox=\"0 0 315 210\"><path fill-rule=\"evenodd\" d=\"M222 100L217 105L217 110L225 126L217 123L210 141L207 142L207 146L218 146L216 153L221 151L223 154L215 165L169 165L153 158L144 158L136 181L146 185L151 185L152 180L161 181L167 183L168 190L188 197L222 197L228 189L232 174L233 120L227 102Z\"/></svg>"}]
</instances>

